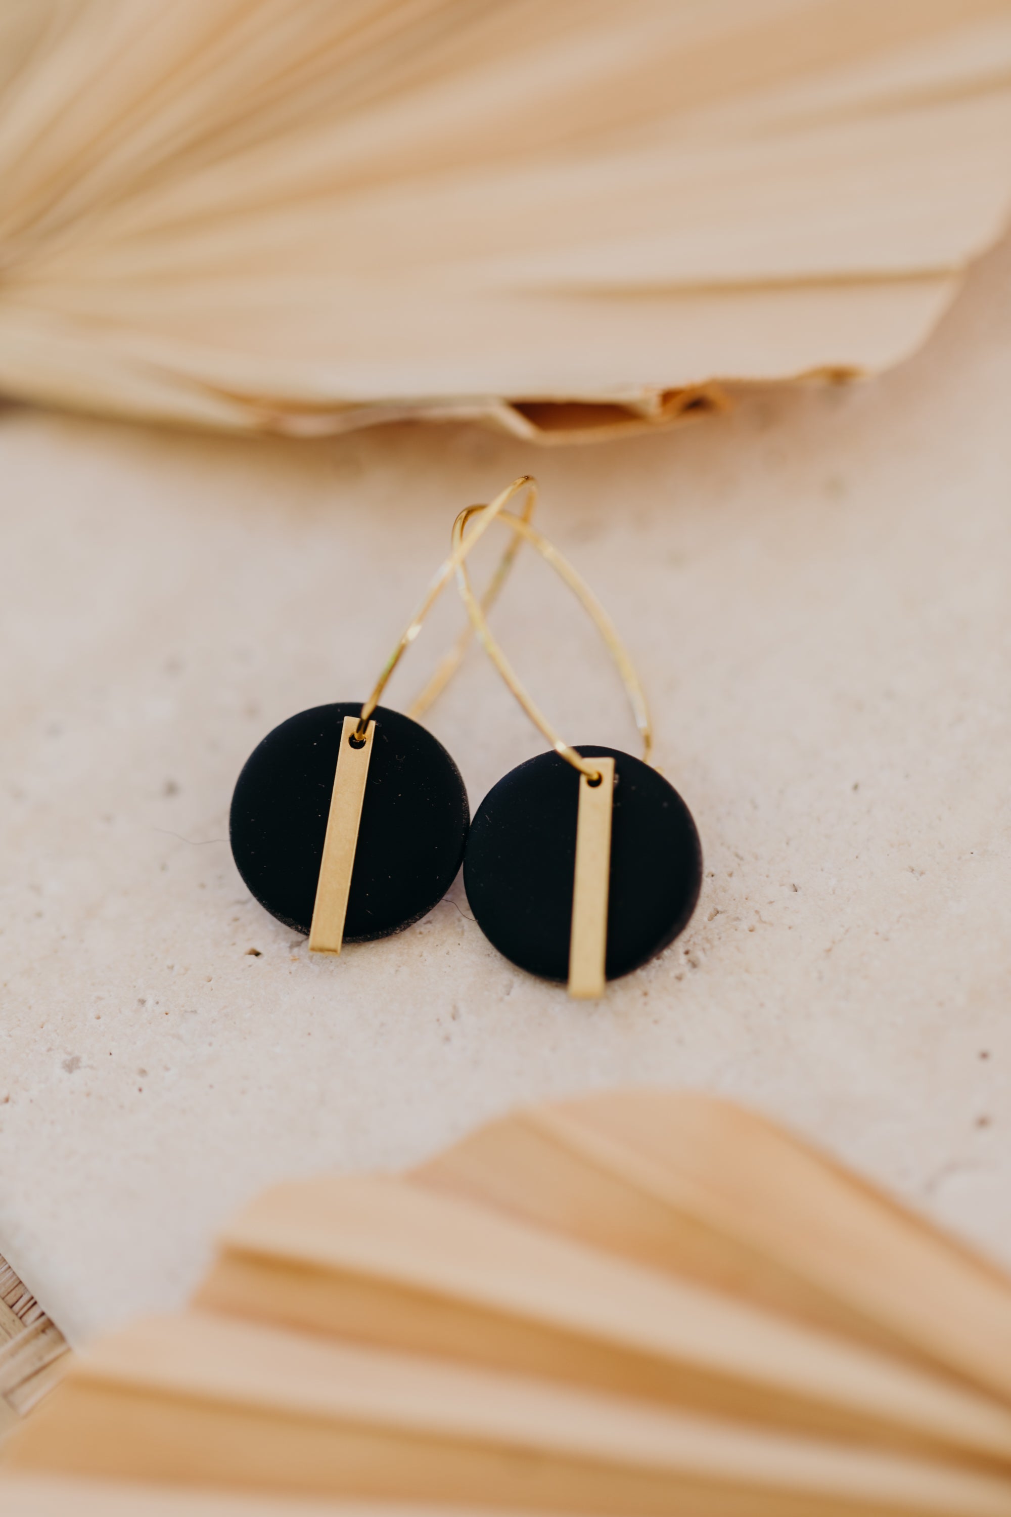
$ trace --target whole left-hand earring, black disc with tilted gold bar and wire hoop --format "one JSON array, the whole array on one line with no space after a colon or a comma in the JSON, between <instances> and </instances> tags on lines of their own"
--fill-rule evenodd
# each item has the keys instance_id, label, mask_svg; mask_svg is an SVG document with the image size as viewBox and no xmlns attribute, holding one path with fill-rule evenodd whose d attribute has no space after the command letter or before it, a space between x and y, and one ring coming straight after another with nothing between
<instances>
[{"instance_id":1,"label":"whole left-hand earring, black disc with tilted gold bar and wire hoop","mask_svg":"<svg viewBox=\"0 0 1011 1517\"><path fill-rule=\"evenodd\" d=\"M470 822L459 769L411 715L377 702L441 590L524 487L521 519L529 519L535 487L524 476L455 540L370 698L291 716L264 737L238 777L229 824L236 868L259 904L306 933L315 953L402 931L441 901L459 871ZM511 545L487 601L514 557ZM453 657L443 660L441 684L459 661Z\"/></svg>"}]
</instances>

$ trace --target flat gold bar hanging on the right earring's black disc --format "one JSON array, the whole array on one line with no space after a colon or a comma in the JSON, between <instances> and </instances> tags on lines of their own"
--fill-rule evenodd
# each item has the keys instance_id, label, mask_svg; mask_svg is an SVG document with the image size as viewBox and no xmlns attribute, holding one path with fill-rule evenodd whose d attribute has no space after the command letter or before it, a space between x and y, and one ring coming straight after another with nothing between
<instances>
[{"instance_id":1,"label":"flat gold bar hanging on the right earring's black disc","mask_svg":"<svg viewBox=\"0 0 1011 1517\"><path fill-rule=\"evenodd\" d=\"M614 758L594 758L600 784L579 775L576 878L568 939L568 994L596 1001L603 995L608 953L608 883L611 875L611 807Z\"/></svg>"}]
</instances>

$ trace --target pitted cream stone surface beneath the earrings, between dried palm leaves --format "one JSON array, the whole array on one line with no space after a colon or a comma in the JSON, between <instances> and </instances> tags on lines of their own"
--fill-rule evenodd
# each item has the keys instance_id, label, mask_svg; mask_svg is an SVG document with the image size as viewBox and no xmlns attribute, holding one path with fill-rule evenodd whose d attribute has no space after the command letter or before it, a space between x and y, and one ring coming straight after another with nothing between
<instances>
[{"instance_id":1,"label":"pitted cream stone surface beneath the earrings, between dried palm leaves","mask_svg":"<svg viewBox=\"0 0 1011 1517\"><path fill-rule=\"evenodd\" d=\"M1011 1262L1009 394L1005 249L884 379L594 449L2 414L0 1253L56 1321L173 1306L282 1176L629 1082L756 1103ZM459 881L311 962L224 840L255 743L367 692L455 511L524 469L706 856L685 934L590 1004L502 960ZM496 625L570 740L632 746L526 555ZM477 657L432 727L471 804L541 746Z\"/></svg>"}]
</instances>

